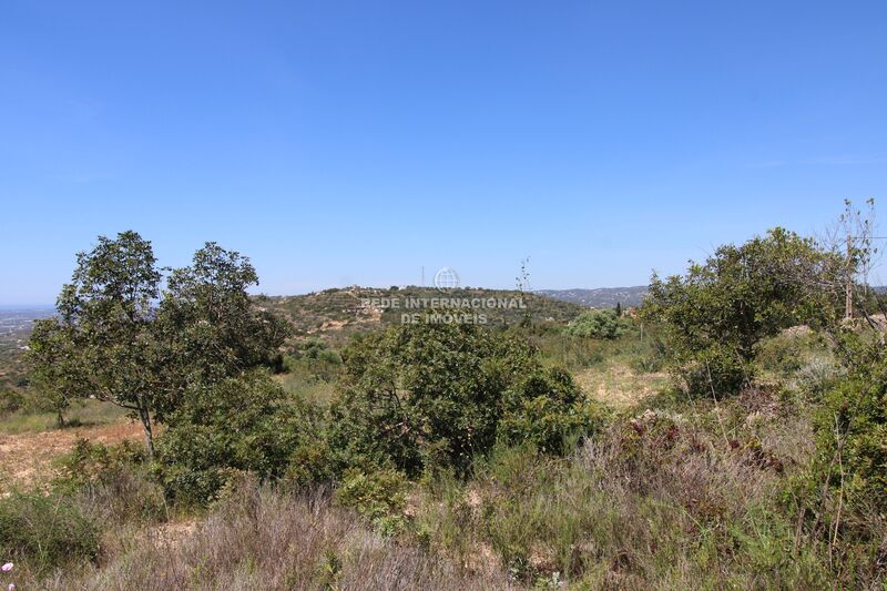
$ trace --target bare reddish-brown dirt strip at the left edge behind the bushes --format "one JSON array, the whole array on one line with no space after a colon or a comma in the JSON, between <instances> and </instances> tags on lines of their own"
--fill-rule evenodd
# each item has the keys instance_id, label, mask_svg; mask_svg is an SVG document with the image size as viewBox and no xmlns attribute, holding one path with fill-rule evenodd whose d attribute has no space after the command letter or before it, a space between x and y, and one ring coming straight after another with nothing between
<instances>
[{"instance_id":1,"label":"bare reddish-brown dirt strip at the left edge behind the bushes","mask_svg":"<svg viewBox=\"0 0 887 591\"><path fill-rule=\"evenodd\" d=\"M13 488L28 489L37 483L48 482L54 475L52 460L71 450L80 439L115 444L141 437L142 427L134 421L0 435L0 493Z\"/></svg>"}]
</instances>

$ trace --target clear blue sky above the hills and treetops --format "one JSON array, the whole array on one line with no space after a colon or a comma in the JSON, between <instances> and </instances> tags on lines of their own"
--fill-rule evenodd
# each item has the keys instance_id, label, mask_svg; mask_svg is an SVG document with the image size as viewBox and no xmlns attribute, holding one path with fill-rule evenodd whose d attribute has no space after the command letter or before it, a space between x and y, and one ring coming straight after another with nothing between
<instances>
[{"instance_id":1,"label":"clear blue sky above the hills and treetops","mask_svg":"<svg viewBox=\"0 0 887 591\"><path fill-rule=\"evenodd\" d=\"M261 291L644 283L887 196L887 3L0 8L0 304L133 228Z\"/></svg>"}]
</instances>

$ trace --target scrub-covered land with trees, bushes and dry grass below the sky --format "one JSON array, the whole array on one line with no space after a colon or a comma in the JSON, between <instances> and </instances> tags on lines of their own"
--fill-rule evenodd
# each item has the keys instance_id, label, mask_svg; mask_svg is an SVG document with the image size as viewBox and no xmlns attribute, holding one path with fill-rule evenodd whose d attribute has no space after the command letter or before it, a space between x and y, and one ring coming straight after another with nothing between
<instances>
[{"instance_id":1,"label":"scrub-covered land with trees, bushes and dry grass below the sky","mask_svg":"<svg viewBox=\"0 0 887 591\"><path fill-rule=\"evenodd\" d=\"M254 298L214 243L161 269L101 237L31 335L40 404L0 421L9 448L29 417L92 439L0 480L3 582L881 589L871 255L774 228L654 275L631 316L510 293L531 314L401 323L360 302L427 291Z\"/></svg>"}]
</instances>

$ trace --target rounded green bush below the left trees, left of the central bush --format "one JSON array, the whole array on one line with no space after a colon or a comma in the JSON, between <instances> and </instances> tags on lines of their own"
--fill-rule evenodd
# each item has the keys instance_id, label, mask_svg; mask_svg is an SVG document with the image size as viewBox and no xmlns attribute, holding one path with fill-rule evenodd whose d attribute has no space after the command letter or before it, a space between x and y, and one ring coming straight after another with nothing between
<instances>
[{"instance_id":1,"label":"rounded green bush below the left trees, left of the central bush","mask_svg":"<svg viewBox=\"0 0 887 591\"><path fill-rule=\"evenodd\" d=\"M290 461L298 482L320 480L326 454L316 409L290 398L266 370L187 390L157 442L157 475L166 493L205 505L243 472L282 477Z\"/></svg>"}]
</instances>

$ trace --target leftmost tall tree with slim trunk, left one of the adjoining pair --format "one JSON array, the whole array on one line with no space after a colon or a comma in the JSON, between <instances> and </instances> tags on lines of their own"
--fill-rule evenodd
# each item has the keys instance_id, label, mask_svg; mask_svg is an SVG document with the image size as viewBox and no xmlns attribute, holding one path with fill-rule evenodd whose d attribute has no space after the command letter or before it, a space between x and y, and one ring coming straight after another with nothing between
<instances>
[{"instance_id":1,"label":"leftmost tall tree with slim trunk, left one of the adjoining pair","mask_svg":"<svg viewBox=\"0 0 887 591\"><path fill-rule=\"evenodd\" d=\"M151 243L135 232L115 240L100 236L77 262L57 300L58 318L34 330L31 371L60 400L94 396L130 410L153 450L159 380L151 371L156 350L152 324L161 273Z\"/></svg>"}]
</instances>

